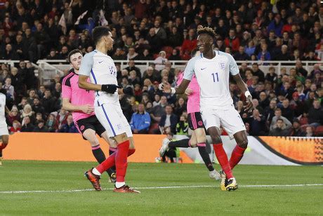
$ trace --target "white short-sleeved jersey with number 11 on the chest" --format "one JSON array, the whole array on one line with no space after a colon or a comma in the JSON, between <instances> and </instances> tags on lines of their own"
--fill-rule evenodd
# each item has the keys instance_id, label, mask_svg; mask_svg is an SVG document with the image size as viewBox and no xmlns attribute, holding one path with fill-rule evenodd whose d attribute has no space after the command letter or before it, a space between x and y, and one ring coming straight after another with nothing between
<instances>
[{"instance_id":1,"label":"white short-sleeved jersey with number 11 on the chest","mask_svg":"<svg viewBox=\"0 0 323 216\"><path fill-rule=\"evenodd\" d=\"M203 58L203 54L192 58L185 67L184 79L191 80L195 74L199 83L200 107L230 109L233 100L229 89L229 76L239 74L237 62L228 53L215 51L213 59Z\"/></svg>"}]
</instances>

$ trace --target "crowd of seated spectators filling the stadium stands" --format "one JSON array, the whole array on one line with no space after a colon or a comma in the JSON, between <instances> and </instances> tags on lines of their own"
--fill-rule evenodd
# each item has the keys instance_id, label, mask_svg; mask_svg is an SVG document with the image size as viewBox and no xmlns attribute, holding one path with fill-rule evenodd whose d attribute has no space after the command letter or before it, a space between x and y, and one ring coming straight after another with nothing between
<instances>
[{"instance_id":1,"label":"crowd of seated spectators filling the stadium stands","mask_svg":"<svg viewBox=\"0 0 323 216\"><path fill-rule=\"evenodd\" d=\"M230 3L230 4L229 4ZM0 0L1 88L11 109L11 132L77 133L70 113L61 109L61 81L39 85L31 62L66 60L70 50L93 50L91 31L108 25L114 39L119 83L133 88L121 95L121 107L133 133L187 134L187 97L162 93L159 83L176 85L180 70L172 60L189 60L197 47L199 25L212 27L214 48L235 60L296 60L280 72L265 74L257 63L242 63L240 74L253 96L253 112L244 112L244 98L235 83L232 99L249 135L315 136L322 134L323 6L319 1L63 1ZM154 60L140 71L136 60ZM313 61L307 71L302 61ZM65 72L67 74L68 72ZM225 131L223 131L225 134Z\"/></svg>"}]
</instances>

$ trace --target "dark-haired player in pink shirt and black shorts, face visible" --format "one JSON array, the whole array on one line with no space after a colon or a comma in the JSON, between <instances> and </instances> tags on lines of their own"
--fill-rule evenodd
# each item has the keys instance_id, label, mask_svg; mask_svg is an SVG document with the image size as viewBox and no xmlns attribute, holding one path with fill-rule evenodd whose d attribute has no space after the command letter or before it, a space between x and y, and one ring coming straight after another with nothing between
<instances>
[{"instance_id":1,"label":"dark-haired player in pink shirt and black shorts, face visible","mask_svg":"<svg viewBox=\"0 0 323 216\"><path fill-rule=\"evenodd\" d=\"M92 153L98 163L105 161L105 154L100 148L100 142L95 133L103 137L110 144L110 154L113 154L117 145L110 140L105 128L101 125L94 113L94 91L79 88L79 67L83 55L80 50L72 50L68 54L68 60L72 69L62 80L62 109L72 112L73 121L84 140L88 140L92 147ZM107 170L110 182L116 181L115 169Z\"/></svg>"}]
</instances>

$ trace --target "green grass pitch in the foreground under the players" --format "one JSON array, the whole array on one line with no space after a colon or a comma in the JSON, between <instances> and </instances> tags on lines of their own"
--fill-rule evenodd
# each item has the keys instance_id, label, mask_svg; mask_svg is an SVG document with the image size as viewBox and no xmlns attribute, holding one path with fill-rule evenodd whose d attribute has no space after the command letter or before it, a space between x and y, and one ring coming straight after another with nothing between
<instances>
[{"instance_id":1,"label":"green grass pitch in the foreground under the players","mask_svg":"<svg viewBox=\"0 0 323 216\"><path fill-rule=\"evenodd\" d=\"M4 161L0 191L92 189L84 171L95 163ZM216 166L218 168L218 166ZM322 184L319 166L237 166L239 185ZM141 194L105 191L0 194L0 215L223 215L315 214L323 212L323 186L241 187L220 191L202 164L129 163L131 187L214 185L214 187L140 189Z\"/></svg>"}]
</instances>

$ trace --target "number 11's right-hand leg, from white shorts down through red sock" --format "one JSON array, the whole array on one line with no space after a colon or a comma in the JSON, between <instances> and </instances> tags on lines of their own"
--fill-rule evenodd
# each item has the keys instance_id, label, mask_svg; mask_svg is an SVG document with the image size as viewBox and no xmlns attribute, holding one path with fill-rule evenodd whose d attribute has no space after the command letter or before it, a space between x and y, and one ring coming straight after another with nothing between
<instances>
[{"instance_id":1,"label":"number 11's right-hand leg, from white shorts down through red sock","mask_svg":"<svg viewBox=\"0 0 323 216\"><path fill-rule=\"evenodd\" d=\"M248 137L246 136L246 127L236 109L225 110L221 115L223 128L229 133L230 137L235 137L237 146L233 149L230 158L230 167L234 168L242 159L244 151L248 145Z\"/></svg>"}]
</instances>

